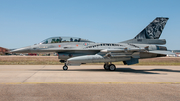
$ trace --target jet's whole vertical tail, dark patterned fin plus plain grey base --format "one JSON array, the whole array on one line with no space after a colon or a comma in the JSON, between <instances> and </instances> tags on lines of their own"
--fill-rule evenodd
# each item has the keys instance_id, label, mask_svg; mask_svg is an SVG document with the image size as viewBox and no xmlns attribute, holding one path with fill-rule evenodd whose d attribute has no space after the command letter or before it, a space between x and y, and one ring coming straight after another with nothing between
<instances>
[{"instance_id":1,"label":"jet's whole vertical tail, dark patterned fin plus plain grey base","mask_svg":"<svg viewBox=\"0 0 180 101\"><path fill-rule=\"evenodd\" d=\"M121 43L138 43L138 44L166 44L165 39L159 39L161 33L169 18L157 17L146 28L144 28L136 37Z\"/></svg>"}]
</instances>

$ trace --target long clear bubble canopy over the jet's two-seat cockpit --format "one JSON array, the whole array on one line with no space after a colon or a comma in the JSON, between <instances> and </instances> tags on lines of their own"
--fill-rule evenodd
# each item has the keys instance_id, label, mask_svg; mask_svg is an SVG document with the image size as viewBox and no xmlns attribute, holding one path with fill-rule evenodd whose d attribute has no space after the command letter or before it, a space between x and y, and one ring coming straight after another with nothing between
<instances>
[{"instance_id":1,"label":"long clear bubble canopy over the jet's two-seat cockpit","mask_svg":"<svg viewBox=\"0 0 180 101\"><path fill-rule=\"evenodd\" d=\"M92 41L77 37L51 37L40 42L39 44L64 43L64 42L92 42Z\"/></svg>"}]
</instances>

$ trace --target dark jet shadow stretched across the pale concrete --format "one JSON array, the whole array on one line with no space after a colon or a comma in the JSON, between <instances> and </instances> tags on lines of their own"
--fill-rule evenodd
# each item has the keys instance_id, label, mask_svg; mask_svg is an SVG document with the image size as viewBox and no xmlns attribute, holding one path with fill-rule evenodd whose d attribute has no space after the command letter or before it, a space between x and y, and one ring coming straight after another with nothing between
<instances>
[{"instance_id":1,"label":"dark jet shadow stretched across the pale concrete","mask_svg":"<svg viewBox=\"0 0 180 101\"><path fill-rule=\"evenodd\" d=\"M62 69L29 69L30 71L64 71ZM171 69L132 69L132 68L116 68L116 71L108 71L104 69L69 69L67 71L88 71L88 72L121 72L121 73L137 73L137 74L162 74L159 72L177 72L180 70ZM64 71L66 72L66 71Z\"/></svg>"}]
</instances>

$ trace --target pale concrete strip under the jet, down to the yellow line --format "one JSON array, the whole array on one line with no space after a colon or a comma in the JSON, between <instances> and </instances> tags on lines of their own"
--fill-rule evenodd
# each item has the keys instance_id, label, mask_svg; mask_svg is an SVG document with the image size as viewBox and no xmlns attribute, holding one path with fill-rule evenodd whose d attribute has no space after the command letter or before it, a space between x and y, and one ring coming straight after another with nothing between
<instances>
[{"instance_id":1,"label":"pale concrete strip under the jet, down to the yellow line","mask_svg":"<svg viewBox=\"0 0 180 101\"><path fill-rule=\"evenodd\" d=\"M180 66L117 66L106 71L101 65L0 65L0 83L57 82L180 82Z\"/></svg>"}]
</instances>

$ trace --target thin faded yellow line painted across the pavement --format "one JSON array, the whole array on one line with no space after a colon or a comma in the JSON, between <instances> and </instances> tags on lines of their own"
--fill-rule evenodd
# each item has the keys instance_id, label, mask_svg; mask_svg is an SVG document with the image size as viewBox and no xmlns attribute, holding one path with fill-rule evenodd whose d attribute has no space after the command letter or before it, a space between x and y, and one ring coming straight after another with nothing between
<instances>
[{"instance_id":1,"label":"thin faded yellow line painted across the pavement","mask_svg":"<svg viewBox=\"0 0 180 101\"><path fill-rule=\"evenodd\" d=\"M180 82L7 82L0 84L180 84Z\"/></svg>"}]
</instances>

